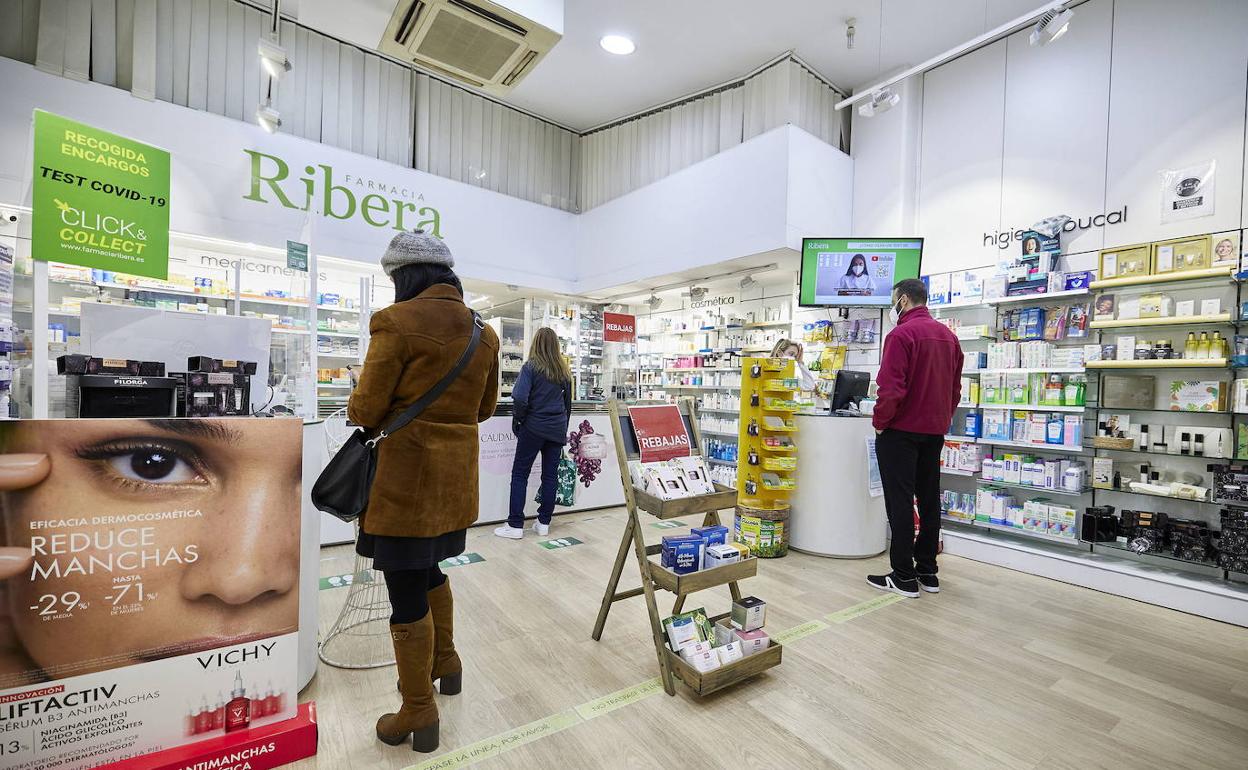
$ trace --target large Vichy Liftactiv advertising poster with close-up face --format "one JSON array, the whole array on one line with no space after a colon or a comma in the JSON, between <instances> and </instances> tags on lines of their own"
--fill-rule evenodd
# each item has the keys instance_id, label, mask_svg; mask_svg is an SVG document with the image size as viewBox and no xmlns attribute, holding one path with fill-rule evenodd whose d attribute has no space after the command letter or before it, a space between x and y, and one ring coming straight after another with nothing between
<instances>
[{"instance_id":1,"label":"large Vichy Liftactiv advertising poster with close-up face","mask_svg":"<svg viewBox=\"0 0 1248 770\"><path fill-rule=\"evenodd\" d=\"M296 714L298 419L0 423L2 766Z\"/></svg>"}]
</instances>

